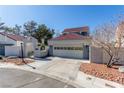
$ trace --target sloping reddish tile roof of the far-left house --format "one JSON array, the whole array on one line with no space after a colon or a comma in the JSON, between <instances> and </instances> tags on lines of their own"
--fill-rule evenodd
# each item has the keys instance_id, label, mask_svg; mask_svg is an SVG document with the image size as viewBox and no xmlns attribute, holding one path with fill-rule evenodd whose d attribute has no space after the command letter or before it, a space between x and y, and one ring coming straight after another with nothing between
<instances>
[{"instance_id":1,"label":"sloping reddish tile roof of the far-left house","mask_svg":"<svg viewBox=\"0 0 124 93\"><path fill-rule=\"evenodd\" d=\"M20 36L20 35L13 35L13 34L7 34L4 32L0 32L1 35L7 36L8 38L11 38L15 41L23 41L25 39L24 36Z\"/></svg>"}]
</instances>

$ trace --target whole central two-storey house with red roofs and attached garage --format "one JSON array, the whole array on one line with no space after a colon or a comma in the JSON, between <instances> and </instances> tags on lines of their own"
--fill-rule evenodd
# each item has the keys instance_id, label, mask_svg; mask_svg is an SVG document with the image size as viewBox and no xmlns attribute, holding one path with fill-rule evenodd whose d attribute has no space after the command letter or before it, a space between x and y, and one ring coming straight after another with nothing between
<instances>
[{"instance_id":1,"label":"whole central two-storey house with red roofs and attached garage","mask_svg":"<svg viewBox=\"0 0 124 93\"><path fill-rule=\"evenodd\" d=\"M89 59L91 37L89 27L68 28L62 35L48 41L49 55Z\"/></svg>"}]
</instances>

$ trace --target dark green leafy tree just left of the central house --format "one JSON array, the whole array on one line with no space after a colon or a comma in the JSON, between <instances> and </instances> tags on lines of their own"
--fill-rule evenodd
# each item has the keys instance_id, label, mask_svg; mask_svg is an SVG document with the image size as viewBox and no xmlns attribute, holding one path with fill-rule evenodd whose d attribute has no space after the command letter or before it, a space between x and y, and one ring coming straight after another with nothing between
<instances>
[{"instance_id":1,"label":"dark green leafy tree just left of the central house","mask_svg":"<svg viewBox=\"0 0 124 93\"><path fill-rule=\"evenodd\" d=\"M46 25L38 25L37 31L33 35L39 43L44 43L47 45L48 39L51 39L54 35L54 29L48 28Z\"/></svg>"}]
</instances>

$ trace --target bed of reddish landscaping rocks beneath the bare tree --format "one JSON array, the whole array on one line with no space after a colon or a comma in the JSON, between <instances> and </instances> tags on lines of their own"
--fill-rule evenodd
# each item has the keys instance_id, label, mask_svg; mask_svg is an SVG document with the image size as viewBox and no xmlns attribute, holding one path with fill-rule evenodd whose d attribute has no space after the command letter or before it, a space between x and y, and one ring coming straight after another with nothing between
<instances>
[{"instance_id":1,"label":"bed of reddish landscaping rocks beneath the bare tree","mask_svg":"<svg viewBox=\"0 0 124 93\"><path fill-rule=\"evenodd\" d=\"M118 71L118 65L108 68L104 64L82 63L80 71L102 79L107 79L120 84L124 84L124 73Z\"/></svg>"}]
</instances>

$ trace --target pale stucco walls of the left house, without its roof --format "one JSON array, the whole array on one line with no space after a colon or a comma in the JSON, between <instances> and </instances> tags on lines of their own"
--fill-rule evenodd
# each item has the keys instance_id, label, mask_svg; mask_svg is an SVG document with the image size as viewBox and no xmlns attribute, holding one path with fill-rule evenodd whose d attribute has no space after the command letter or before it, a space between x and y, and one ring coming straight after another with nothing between
<instances>
[{"instance_id":1,"label":"pale stucco walls of the left house, without its roof","mask_svg":"<svg viewBox=\"0 0 124 93\"><path fill-rule=\"evenodd\" d=\"M28 57L29 52L34 52L37 46L37 40L35 38L31 38L30 40L16 41L7 36L0 34L0 43L4 44L12 44L12 45L4 45L5 56L21 56L21 43L24 48L24 56ZM1 44L1 45L2 45ZM2 45L2 46L3 46Z\"/></svg>"}]
</instances>

